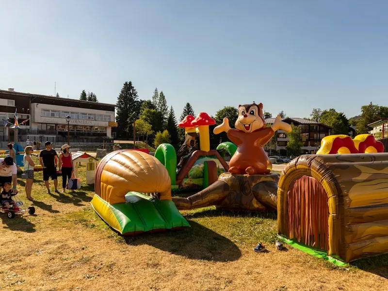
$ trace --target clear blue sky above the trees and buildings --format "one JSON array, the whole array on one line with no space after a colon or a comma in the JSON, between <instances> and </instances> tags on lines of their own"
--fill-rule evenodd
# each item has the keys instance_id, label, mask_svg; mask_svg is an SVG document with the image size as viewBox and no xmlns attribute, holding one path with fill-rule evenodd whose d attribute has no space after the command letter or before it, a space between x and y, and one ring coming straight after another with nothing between
<instances>
[{"instance_id":1,"label":"clear blue sky above the trees and buildings","mask_svg":"<svg viewBox=\"0 0 388 291\"><path fill-rule=\"evenodd\" d=\"M115 103L125 81L177 117L262 102L348 117L388 105L386 0L0 0L0 88ZM179 119L179 118L178 118Z\"/></svg>"}]
</instances>

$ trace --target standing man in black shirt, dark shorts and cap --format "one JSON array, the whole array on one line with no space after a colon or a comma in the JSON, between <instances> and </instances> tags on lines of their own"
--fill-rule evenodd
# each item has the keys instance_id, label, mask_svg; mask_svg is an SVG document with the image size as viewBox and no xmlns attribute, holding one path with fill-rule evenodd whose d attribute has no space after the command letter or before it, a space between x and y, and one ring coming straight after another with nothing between
<instances>
[{"instance_id":1,"label":"standing man in black shirt, dark shorts and cap","mask_svg":"<svg viewBox=\"0 0 388 291\"><path fill-rule=\"evenodd\" d=\"M59 194L57 189L57 152L52 149L52 144L50 142L46 142L45 146L46 149L42 150L39 155L39 162L43 167L43 180L45 181L47 193L50 194L49 178L51 177L51 179L54 180L55 193Z\"/></svg>"}]
</instances>

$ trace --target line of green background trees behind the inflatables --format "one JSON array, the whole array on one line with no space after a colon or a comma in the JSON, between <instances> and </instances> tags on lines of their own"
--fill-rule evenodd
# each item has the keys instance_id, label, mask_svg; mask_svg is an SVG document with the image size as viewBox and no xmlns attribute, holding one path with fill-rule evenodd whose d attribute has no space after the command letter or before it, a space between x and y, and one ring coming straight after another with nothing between
<instances>
[{"instance_id":1,"label":"line of green background trees behind the inflatables","mask_svg":"<svg viewBox=\"0 0 388 291\"><path fill-rule=\"evenodd\" d=\"M82 93L86 95L84 91ZM193 107L190 103L186 103L180 114L179 121L189 114L195 117ZM284 111L278 114L282 118L288 117ZM264 112L264 116L267 118L273 117L268 112ZM217 111L215 116L211 117L216 121L216 124L210 126L210 143L217 145L220 142L228 141L225 132L214 135L212 131L214 127L223 122L224 117L229 119L229 124L233 127L238 117L237 108L226 106ZM357 134L368 133L372 129L368 124L383 118L388 118L388 107L379 106L372 102L362 106L360 115L352 118L347 118L344 113L337 112L333 108L326 110L314 108L309 117L305 117L305 119L331 127L331 134L346 135L349 134L351 126L356 126ZM120 138L133 138L133 123L135 122L135 135L137 139L140 138L148 144L153 144L154 146L162 143L178 145L184 140L184 129L178 127L174 109L172 106L168 107L164 93L162 91L159 92L155 88L150 99L142 100L139 98L131 81L124 83L117 97L116 122L117 136ZM288 144L292 148L300 148L303 145L301 138L299 139L301 132L297 127L293 127L293 129L294 132L288 134L290 139ZM276 137L269 142L268 146L275 145Z\"/></svg>"}]
</instances>

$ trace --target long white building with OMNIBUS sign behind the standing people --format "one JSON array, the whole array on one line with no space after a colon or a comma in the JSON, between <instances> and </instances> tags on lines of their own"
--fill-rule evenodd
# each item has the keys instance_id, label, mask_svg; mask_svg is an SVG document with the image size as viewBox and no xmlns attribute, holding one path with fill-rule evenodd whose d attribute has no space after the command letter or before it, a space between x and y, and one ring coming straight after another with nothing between
<instances>
[{"instance_id":1,"label":"long white building with OMNIBUS sign behind the standing people","mask_svg":"<svg viewBox=\"0 0 388 291\"><path fill-rule=\"evenodd\" d=\"M81 101L77 99L20 93L12 90L0 90L0 117L14 122L13 115L17 108L20 126L18 142L30 141L62 143L67 141L67 129L72 143L101 143L112 139L112 127L115 123L115 106L113 104ZM4 116L2 116L4 115ZM69 124L66 116L70 116ZM7 117L7 118L6 118ZM69 125L69 127L67 127ZM2 139L9 139L13 129L3 129ZM11 137L11 141L14 139Z\"/></svg>"}]
</instances>

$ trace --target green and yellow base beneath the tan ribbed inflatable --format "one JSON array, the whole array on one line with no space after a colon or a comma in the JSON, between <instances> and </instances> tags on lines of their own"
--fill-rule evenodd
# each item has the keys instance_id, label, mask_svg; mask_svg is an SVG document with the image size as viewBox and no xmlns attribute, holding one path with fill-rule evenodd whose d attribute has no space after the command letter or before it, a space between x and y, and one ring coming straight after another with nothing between
<instances>
[{"instance_id":1,"label":"green and yellow base beneath the tan ribbed inflatable","mask_svg":"<svg viewBox=\"0 0 388 291\"><path fill-rule=\"evenodd\" d=\"M97 195L93 200L98 215L124 236L190 227L171 200L152 199L137 192L129 192L125 195L126 202L114 205ZM105 207L97 208L97 204Z\"/></svg>"}]
</instances>

